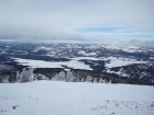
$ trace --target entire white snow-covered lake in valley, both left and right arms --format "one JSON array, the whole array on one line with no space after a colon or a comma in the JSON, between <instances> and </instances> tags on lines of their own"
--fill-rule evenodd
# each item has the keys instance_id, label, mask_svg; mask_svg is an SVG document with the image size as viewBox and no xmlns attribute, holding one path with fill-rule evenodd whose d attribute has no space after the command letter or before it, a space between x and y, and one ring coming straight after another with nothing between
<instances>
[{"instance_id":1,"label":"entire white snow-covered lake in valley, both left and right arms","mask_svg":"<svg viewBox=\"0 0 154 115\"><path fill-rule=\"evenodd\" d=\"M129 58L117 58L117 57L108 57L108 58L95 58L95 57L76 57L69 58L70 61L43 61L43 60L32 60L32 59L21 59L21 58L13 58L15 61L20 62L20 65L30 66L33 68L63 68L63 66L67 66L74 69L86 69L92 70L89 65L85 65L84 62L79 61L81 59L87 60L110 60L110 64L106 64L108 68L112 67L121 67L131 64L144 64L145 61L139 61L135 59Z\"/></svg>"}]
</instances>

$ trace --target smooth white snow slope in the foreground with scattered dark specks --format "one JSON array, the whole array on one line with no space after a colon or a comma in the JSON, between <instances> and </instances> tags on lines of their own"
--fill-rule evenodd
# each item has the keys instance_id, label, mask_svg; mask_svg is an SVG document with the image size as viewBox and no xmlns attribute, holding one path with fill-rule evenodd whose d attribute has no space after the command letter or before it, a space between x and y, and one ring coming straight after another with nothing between
<instances>
[{"instance_id":1,"label":"smooth white snow slope in the foreground with scattered dark specks","mask_svg":"<svg viewBox=\"0 0 154 115\"><path fill-rule=\"evenodd\" d=\"M62 81L1 83L0 115L154 115L154 87Z\"/></svg>"}]
</instances>

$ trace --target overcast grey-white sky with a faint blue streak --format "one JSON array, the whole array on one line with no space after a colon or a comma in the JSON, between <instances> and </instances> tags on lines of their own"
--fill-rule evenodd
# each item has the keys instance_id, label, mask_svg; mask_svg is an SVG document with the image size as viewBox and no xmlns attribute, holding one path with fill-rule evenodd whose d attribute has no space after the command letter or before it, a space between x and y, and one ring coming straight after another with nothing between
<instances>
[{"instance_id":1,"label":"overcast grey-white sky with a faint blue streak","mask_svg":"<svg viewBox=\"0 0 154 115\"><path fill-rule=\"evenodd\" d=\"M0 0L0 41L154 43L154 0Z\"/></svg>"}]
</instances>

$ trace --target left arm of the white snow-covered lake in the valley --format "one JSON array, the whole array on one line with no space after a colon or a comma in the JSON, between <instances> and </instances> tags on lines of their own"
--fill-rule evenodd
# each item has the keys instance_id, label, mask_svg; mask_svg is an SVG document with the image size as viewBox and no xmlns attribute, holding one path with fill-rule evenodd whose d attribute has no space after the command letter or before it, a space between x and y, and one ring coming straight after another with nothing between
<instances>
[{"instance_id":1,"label":"left arm of the white snow-covered lake in the valley","mask_svg":"<svg viewBox=\"0 0 154 115\"><path fill-rule=\"evenodd\" d=\"M84 62L77 61L77 60L70 60L70 61L43 61L43 60L31 60L31 59L21 59L21 58L14 58L15 61L20 62L20 65L23 66L30 66L33 68L63 68L62 66L67 66L75 69L86 69L86 70L92 70L88 65L85 65Z\"/></svg>"}]
</instances>

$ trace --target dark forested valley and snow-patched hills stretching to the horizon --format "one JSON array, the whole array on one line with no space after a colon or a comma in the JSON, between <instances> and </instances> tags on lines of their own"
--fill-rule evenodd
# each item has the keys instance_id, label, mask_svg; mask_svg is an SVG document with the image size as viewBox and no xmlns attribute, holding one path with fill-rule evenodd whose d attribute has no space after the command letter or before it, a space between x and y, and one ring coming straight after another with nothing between
<instances>
[{"instance_id":1,"label":"dark forested valley and snow-patched hills stretching to the horizon","mask_svg":"<svg viewBox=\"0 0 154 115\"><path fill-rule=\"evenodd\" d=\"M65 69L112 83L154 85L154 48L105 44L0 43L0 81L34 68L48 79ZM75 76L76 77L76 76Z\"/></svg>"}]
</instances>

